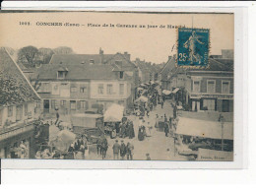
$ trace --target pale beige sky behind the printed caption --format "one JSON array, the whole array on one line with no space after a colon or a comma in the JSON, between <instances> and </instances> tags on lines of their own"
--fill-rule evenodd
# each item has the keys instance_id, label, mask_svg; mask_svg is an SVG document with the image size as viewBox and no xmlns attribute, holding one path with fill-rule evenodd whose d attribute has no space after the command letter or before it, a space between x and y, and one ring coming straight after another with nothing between
<instances>
[{"instance_id":1,"label":"pale beige sky behind the printed caption","mask_svg":"<svg viewBox=\"0 0 256 191\"><path fill-rule=\"evenodd\" d=\"M30 26L20 25L30 22ZM69 23L80 27L37 26L36 23ZM88 24L100 27L88 27ZM115 27L102 27L103 24ZM116 25L145 25L146 28L117 28ZM1 13L0 46L18 49L27 45L37 48L69 46L79 54L125 52L131 59L139 57L154 63L166 62L177 43L177 30L167 25L210 29L210 54L233 49L234 21L232 14L146 14L146 13ZM82 26L84 25L84 26ZM158 28L148 29L148 25ZM165 28L160 29L160 25ZM175 46L174 46L175 47Z\"/></svg>"}]
</instances>

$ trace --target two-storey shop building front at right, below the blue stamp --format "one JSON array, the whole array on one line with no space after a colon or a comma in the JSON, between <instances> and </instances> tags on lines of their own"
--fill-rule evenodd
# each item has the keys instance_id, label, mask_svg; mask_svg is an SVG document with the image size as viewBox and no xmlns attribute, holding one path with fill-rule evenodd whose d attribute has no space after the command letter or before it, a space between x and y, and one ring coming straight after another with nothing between
<instances>
[{"instance_id":1,"label":"two-storey shop building front at right, below the blue stamp","mask_svg":"<svg viewBox=\"0 0 256 191\"><path fill-rule=\"evenodd\" d=\"M186 102L192 111L233 112L233 72L188 71Z\"/></svg>"}]
</instances>

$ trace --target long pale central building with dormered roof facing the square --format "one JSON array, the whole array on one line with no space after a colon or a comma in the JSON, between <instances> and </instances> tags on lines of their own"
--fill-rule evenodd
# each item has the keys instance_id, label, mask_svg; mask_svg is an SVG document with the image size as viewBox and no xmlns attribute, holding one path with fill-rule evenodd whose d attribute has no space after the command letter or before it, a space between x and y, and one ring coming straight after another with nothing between
<instances>
[{"instance_id":1,"label":"long pale central building with dormered roof facing the square","mask_svg":"<svg viewBox=\"0 0 256 191\"><path fill-rule=\"evenodd\" d=\"M104 110L111 102L127 106L132 100L131 77L115 65L48 64L37 73L39 78L32 82L39 81L37 93L44 113L59 110L60 114L70 114L98 107Z\"/></svg>"}]
</instances>

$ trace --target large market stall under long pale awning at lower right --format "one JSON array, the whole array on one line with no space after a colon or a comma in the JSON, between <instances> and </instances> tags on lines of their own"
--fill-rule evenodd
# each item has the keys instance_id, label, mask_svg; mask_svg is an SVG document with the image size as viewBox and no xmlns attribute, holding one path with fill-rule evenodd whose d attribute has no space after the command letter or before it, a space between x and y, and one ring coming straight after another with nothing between
<instances>
[{"instance_id":1,"label":"large market stall under long pale awning at lower right","mask_svg":"<svg viewBox=\"0 0 256 191\"><path fill-rule=\"evenodd\" d=\"M201 149L232 151L233 123L179 117L175 132L179 153ZM187 146L187 150L180 150Z\"/></svg>"}]
</instances>

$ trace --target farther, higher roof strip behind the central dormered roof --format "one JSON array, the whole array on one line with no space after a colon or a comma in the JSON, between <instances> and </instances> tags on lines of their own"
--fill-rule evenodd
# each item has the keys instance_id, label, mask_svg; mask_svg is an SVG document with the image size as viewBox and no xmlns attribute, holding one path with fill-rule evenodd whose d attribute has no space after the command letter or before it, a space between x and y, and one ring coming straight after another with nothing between
<instances>
[{"instance_id":1,"label":"farther, higher roof strip behind the central dormered roof","mask_svg":"<svg viewBox=\"0 0 256 191\"><path fill-rule=\"evenodd\" d=\"M113 56L114 54L102 54L103 63ZM90 64L91 60L95 64L102 64L100 54L53 54L49 64Z\"/></svg>"}]
</instances>

